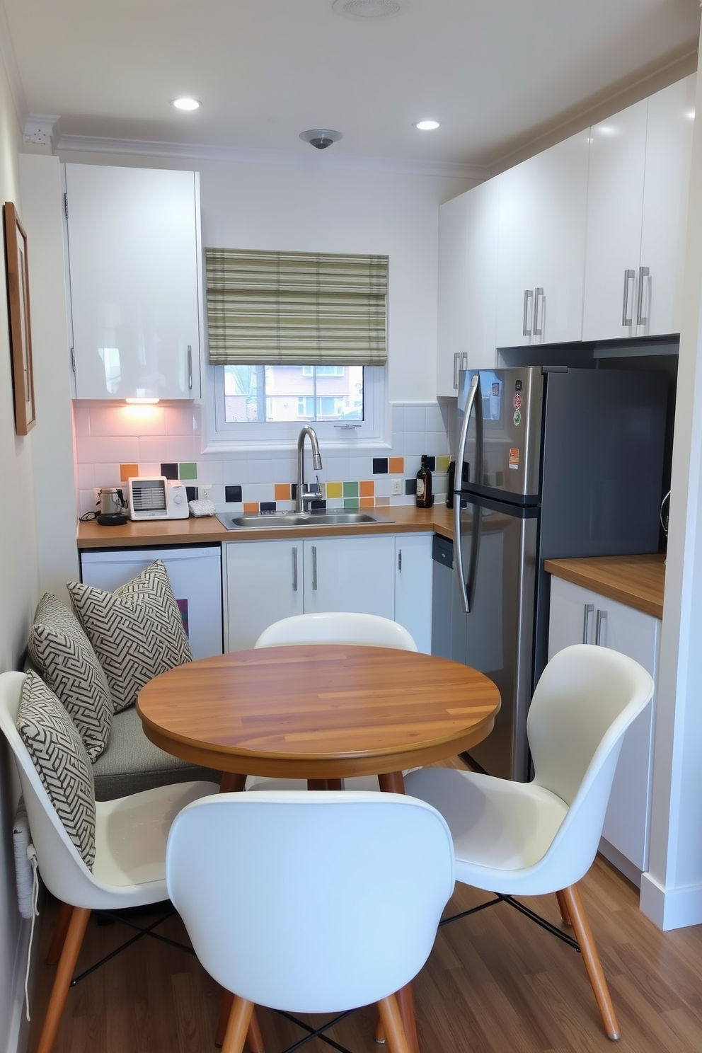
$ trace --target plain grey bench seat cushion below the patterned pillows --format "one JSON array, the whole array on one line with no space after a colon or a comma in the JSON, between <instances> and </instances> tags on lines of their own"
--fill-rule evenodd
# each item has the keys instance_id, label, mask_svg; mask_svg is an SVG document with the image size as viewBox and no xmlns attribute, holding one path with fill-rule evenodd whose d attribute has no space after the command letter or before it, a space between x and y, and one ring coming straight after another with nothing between
<instances>
[{"instance_id":1,"label":"plain grey bench seat cushion below the patterned pillows","mask_svg":"<svg viewBox=\"0 0 702 1053\"><path fill-rule=\"evenodd\" d=\"M159 750L146 736L132 706L113 716L109 741L93 764L97 800L114 800L171 782L219 782L221 772L190 764Z\"/></svg>"}]
</instances>

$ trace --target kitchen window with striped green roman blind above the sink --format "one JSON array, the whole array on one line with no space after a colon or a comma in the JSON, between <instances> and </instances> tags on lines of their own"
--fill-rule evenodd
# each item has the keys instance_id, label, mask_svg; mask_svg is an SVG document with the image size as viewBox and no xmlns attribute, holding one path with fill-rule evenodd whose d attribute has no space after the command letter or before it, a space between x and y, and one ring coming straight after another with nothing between
<instances>
[{"instance_id":1,"label":"kitchen window with striped green roman blind above the sink","mask_svg":"<svg viewBox=\"0 0 702 1053\"><path fill-rule=\"evenodd\" d=\"M309 422L382 438L387 257L207 249L205 264L212 441L285 444Z\"/></svg>"}]
</instances>

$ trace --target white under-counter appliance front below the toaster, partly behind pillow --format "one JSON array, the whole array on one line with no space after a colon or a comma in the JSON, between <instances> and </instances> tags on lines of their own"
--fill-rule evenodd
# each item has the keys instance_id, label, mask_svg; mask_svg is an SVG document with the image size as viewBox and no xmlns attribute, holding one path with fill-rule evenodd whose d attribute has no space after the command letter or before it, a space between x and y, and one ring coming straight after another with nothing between
<instances>
[{"instance_id":1,"label":"white under-counter appliance front below the toaster, partly behind pillow","mask_svg":"<svg viewBox=\"0 0 702 1053\"><path fill-rule=\"evenodd\" d=\"M221 545L178 549L111 549L82 552L81 578L114 592L162 559L178 601L194 658L222 654Z\"/></svg>"}]
</instances>

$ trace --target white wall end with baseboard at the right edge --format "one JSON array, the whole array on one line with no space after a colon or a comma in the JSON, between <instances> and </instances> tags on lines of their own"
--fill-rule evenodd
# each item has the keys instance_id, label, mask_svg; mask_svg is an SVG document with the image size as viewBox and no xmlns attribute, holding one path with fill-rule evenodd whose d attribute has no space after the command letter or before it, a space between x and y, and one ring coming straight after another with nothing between
<instances>
[{"instance_id":1,"label":"white wall end with baseboard at the right edge","mask_svg":"<svg viewBox=\"0 0 702 1053\"><path fill-rule=\"evenodd\" d=\"M697 81L649 869L641 908L662 929L702 922L702 77Z\"/></svg>"}]
</instances>

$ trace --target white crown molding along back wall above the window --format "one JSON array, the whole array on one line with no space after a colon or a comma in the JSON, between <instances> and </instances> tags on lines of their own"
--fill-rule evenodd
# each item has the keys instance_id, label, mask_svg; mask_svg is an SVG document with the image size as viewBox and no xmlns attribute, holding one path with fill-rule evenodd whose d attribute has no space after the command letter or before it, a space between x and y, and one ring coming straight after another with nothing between
<instances>
[{"instance_id":1,"label":"white crown molding along back wall above the window","mask_svg":"<svg viewBox=\"0 0 702 1053\"><path fill-rule=\"evenodd\" d=\"M61 135L56 144L60 154L121 154L137 157L173 157L184 160L230 161L238 164L265 164L284 168L332 168L435 176L448 179L482 181L492 175L482 164L450 161L412 161L393 157L362 155L310 154L306 151L246 150L241 146L207 146L193 143L161 142L145 139L109 139L97 136Z\"/></svg>"}]
</instances>

